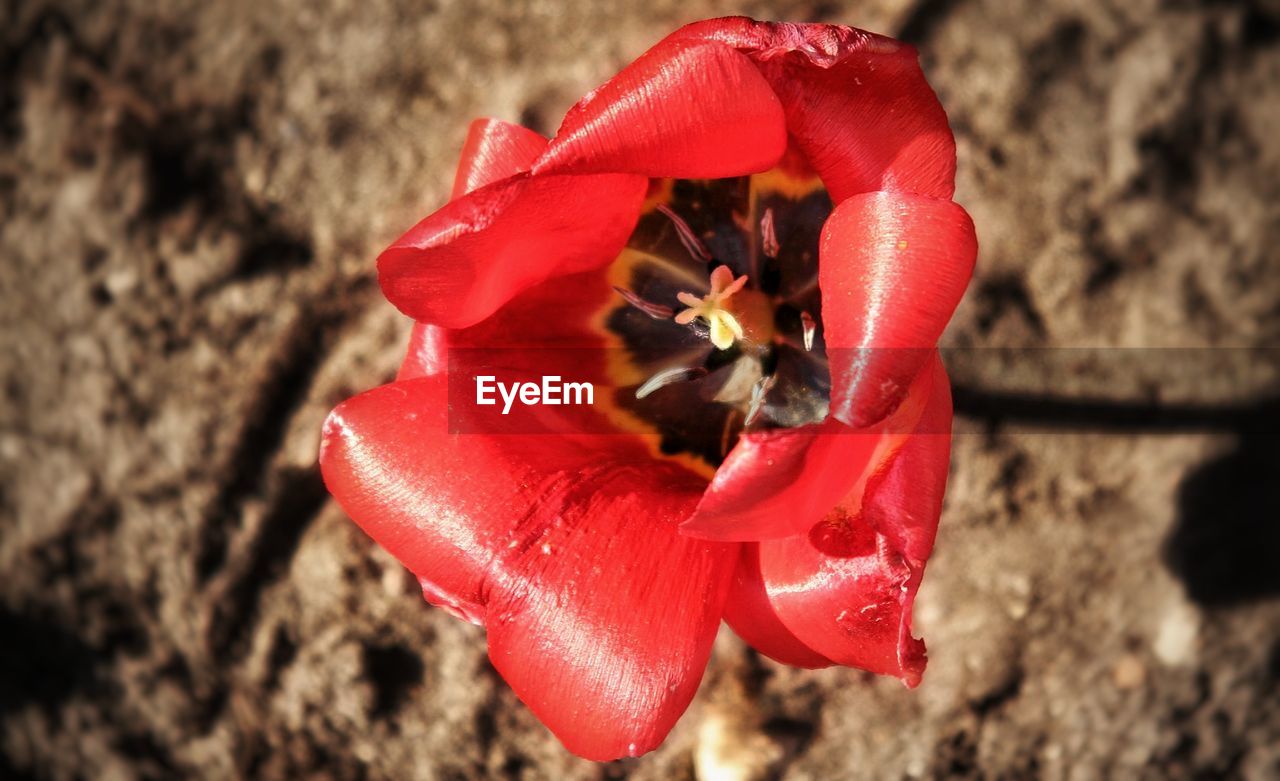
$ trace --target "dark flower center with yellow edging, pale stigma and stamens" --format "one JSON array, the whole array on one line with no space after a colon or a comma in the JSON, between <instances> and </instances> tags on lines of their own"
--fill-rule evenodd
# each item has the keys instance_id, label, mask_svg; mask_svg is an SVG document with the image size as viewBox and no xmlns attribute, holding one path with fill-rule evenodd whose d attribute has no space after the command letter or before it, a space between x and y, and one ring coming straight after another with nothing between
<instances>
[{"instance_id":1,"label":"dark flower center with yellow edging, pale stigma and stamens","mask_svg":"<svg viewBox=\"0 0 1280 781\"><path fill-rule=\"evenodd\" d=\"M660 434L663 453L710 466L744 430L823 420L820 182L777 169L659 181L645 205L609 269L614 403Z\"/></svg>"}]
</instances>

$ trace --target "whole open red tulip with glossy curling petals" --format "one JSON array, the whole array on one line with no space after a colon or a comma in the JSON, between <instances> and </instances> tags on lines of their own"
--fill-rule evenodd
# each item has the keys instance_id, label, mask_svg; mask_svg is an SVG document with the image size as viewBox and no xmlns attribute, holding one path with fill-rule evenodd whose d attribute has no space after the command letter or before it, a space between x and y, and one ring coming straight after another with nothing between
<instances>
[{"instance_id":1,"label":"whole open red tulip with glossy curling petals","mask_svg":"<svg viewBox=\"0 0 1280 781\"><path fill-rule=\"evenodd\" d=\"M977 252L954 173L915 51L847 27L691 24L550 141L479 120L453 200L378 260L417 325L397 382L325 424L325 481L582 757L655 748L722 617L914 686L936 344ZM625 392L556 408L557 437L451 433L451 351L544 374L549 347Z\"/></svg>"}]
</instances>

